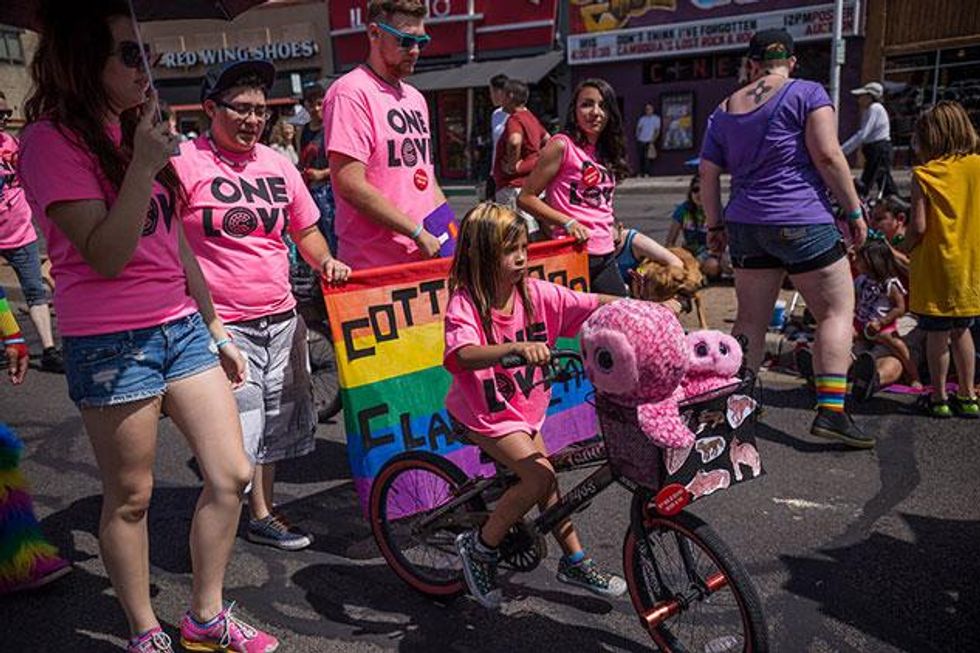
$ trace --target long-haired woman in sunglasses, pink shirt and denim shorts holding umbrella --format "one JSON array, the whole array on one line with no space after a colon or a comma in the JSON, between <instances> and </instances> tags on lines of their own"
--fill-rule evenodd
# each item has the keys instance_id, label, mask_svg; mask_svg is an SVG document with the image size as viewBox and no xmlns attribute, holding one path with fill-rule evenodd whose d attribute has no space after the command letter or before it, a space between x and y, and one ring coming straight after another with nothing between
<instances>
[{"instance_id":1,"label":"long-haired woman in sunglasses, pink shirt and denim shorts holding umbrella","mask_svg":"<svg viewBox=\"0 0 980 653\"><path fill-rule=\"evenodd\" d=\"M204 488L191 524L190 650L271 651L276 640L222 600L251 478L232 384L245 361L184 242L185 201L153 124L157 102L123 0L49 2L32 64L20 174L44 230L69 395L99 466L99 547L130 626L129 651L171 651L150 602L146 511L161 408L186 436Z\"/></svg>"}]
</instances>

